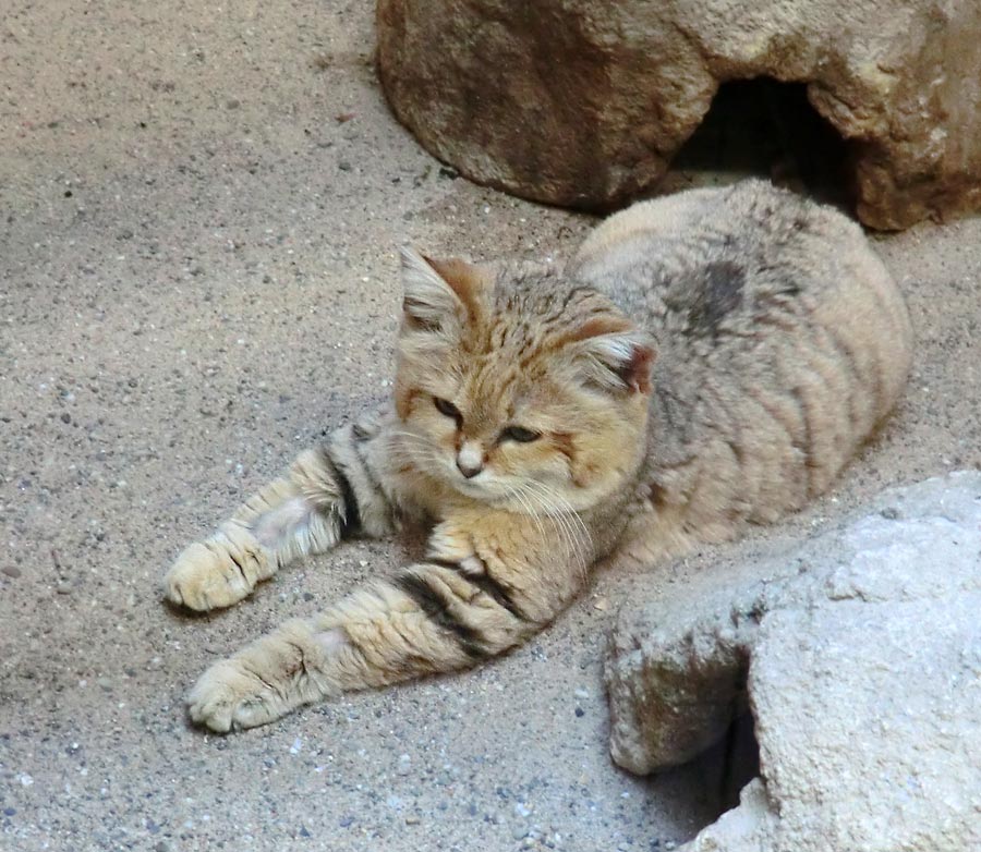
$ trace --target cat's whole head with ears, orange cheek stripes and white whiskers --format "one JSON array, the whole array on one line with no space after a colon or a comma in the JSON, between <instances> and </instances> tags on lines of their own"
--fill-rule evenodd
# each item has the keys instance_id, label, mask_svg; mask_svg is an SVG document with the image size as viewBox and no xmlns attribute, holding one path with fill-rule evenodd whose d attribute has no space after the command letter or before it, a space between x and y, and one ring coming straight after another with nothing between
<instances>
[{"instance_id":1,"label":"cat's whole head with ears, orange cheek stripes and white whiskers","mask_svg":"<svg viewBox=\"0 0 981 852\"><path fill-rule=\"evenodd\" d=\"M512 511L582 510L644 453L650 339L550 270L402 256L399 451Z\"/></svg>"}]
</instances>

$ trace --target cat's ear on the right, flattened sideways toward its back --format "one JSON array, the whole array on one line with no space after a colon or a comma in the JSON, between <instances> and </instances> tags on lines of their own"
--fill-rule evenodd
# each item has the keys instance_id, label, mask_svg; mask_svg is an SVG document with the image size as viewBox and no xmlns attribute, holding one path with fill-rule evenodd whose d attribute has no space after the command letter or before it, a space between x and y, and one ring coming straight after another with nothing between
<instances>
[{"instance_id":1,"label":"cat's ear on the right, flattened sideways toward its back","mask_svg":"<svg viewBox=\"0 0 981 852\"><path fill-rule=\"evenodd\" d=\"M576 361L586 380L601 388L650 393L656 357L651 337L628 327L583 337L577 344Z\"/></svg>"}]
</instances>

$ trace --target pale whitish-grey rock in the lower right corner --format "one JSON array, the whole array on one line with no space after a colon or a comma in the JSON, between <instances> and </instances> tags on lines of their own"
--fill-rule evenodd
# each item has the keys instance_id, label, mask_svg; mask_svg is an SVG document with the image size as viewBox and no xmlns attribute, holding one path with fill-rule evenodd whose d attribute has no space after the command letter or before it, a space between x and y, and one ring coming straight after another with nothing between
<instances>
[{"instance_id":1,"label":"pale whitish-grey rock in the lower right corner","mask_svg":"<svg viewBox=\"0 0 981 852\"><path fill-rule=\"evenodd\" d=\"M614 759L686 760L748 703L760 778L687 852L981 849L981 474L886 492L766 569L625 608Z\"/></svg>"}]
</instances>

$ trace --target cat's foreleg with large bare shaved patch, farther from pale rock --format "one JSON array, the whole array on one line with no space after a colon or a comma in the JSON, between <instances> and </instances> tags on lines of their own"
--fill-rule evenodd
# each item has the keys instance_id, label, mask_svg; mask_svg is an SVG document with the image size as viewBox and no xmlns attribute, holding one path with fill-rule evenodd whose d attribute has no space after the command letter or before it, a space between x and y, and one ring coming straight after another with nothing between
<instances>
[{"instance_id":1,"label":"cat's foreleg with large bare shaved patch, farther from pale rock","mask_svg":"<svg viewBox=\"0 0 981 852\"><path fill-rule=\"evenodd\" d=\"M344 535L391 531L391 507L372 472L379 455L375 419L339 429L327 449L301 453L288 473L177 558L164 579L173 604L206 611L247 596L262 580Z\"/></svg>"}]
</instances>

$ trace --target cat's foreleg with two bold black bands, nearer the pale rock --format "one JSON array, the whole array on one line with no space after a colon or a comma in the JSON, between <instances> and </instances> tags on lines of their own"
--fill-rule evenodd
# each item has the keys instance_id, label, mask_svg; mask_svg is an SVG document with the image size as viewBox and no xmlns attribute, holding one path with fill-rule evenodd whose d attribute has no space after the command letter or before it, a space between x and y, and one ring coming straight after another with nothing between
<instances>
[{"instance_id":1,"label":"cat's foreleg with two bold black bands, nearer the pale rock","mask_svg":"<svg viewBox=\"0 0 981 852\"><path fill-rule=\"evenodd\" d=\"M441 525L424 562L208 669L189 696L192 719L216 731L251 728L341 692L465 668L513 647L552 621L586 576L583 555L571 552L558 525L538 522L531 535L526 522L504 536L499 521L487 536L447 535ZM543 526L554 540L542 540ZM501 539L521 556L502 555Z\"/></svg>"}]
</instances>

